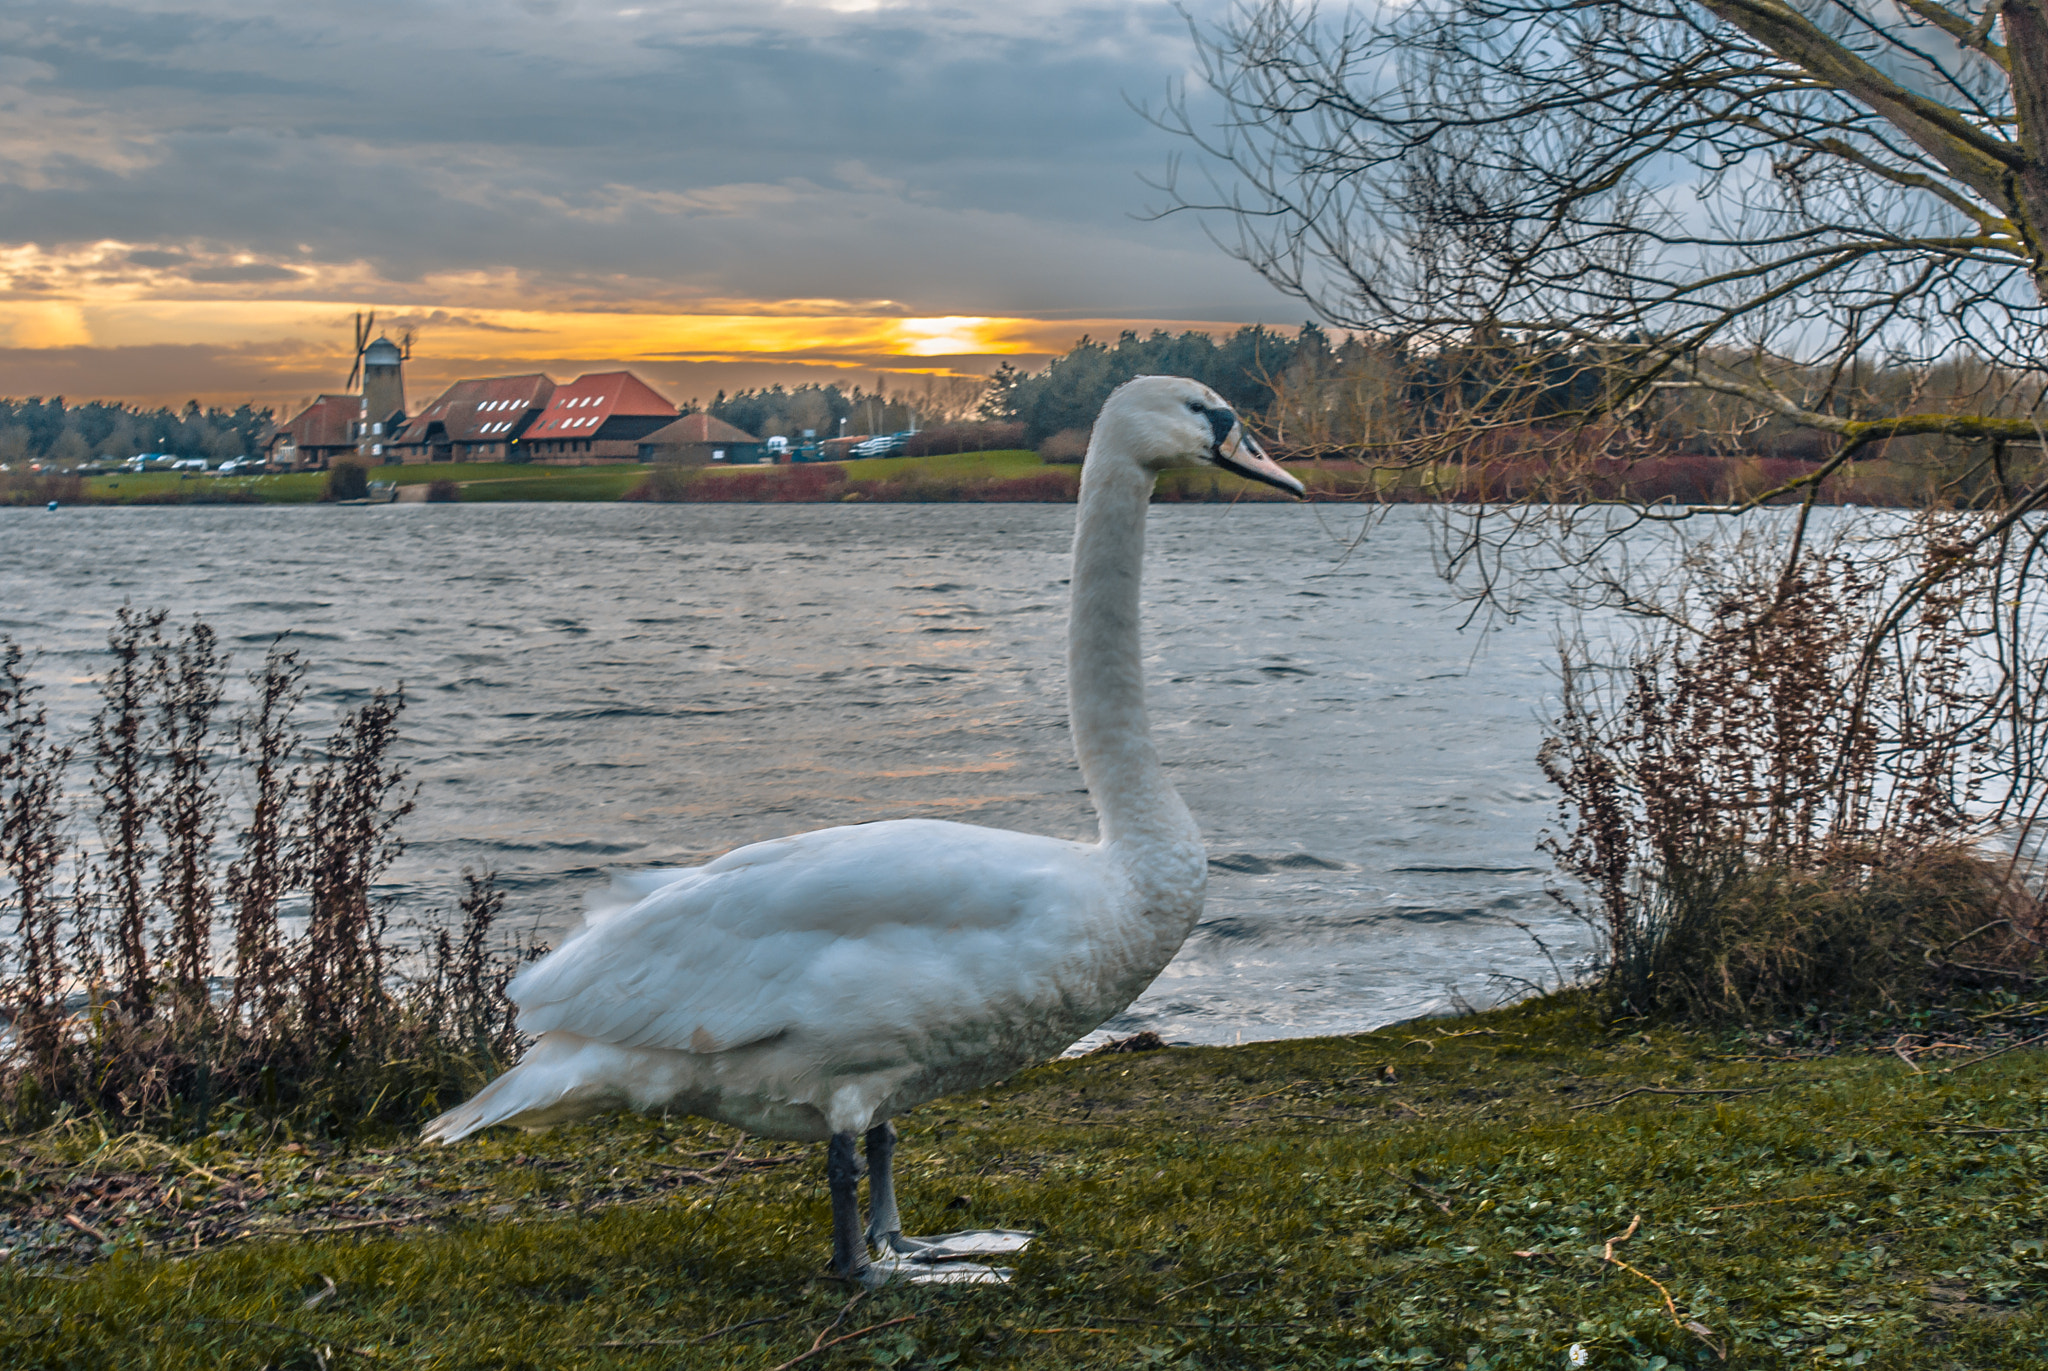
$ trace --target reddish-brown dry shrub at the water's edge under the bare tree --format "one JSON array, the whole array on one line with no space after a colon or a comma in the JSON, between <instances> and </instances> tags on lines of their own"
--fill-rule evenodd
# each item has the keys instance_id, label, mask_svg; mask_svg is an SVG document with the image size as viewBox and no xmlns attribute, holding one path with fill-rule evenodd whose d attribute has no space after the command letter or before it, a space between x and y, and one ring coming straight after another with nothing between
<instances>
[{"instance_id":1,"label":"reddish-brown dry shrub at the water's edge under the bare tree","mask_svg":"<svg viewBox=\"0 0 2048 1371\"><path fill-rule=\"evenodd\" d=\"M1618 1008L1903 1008L2048 969L2040 693L2001 670L2028 633L1954 518L1790 562L1698 549L1618 672L1567 652L1546 848Z\"/></svg>"}]
</instances>

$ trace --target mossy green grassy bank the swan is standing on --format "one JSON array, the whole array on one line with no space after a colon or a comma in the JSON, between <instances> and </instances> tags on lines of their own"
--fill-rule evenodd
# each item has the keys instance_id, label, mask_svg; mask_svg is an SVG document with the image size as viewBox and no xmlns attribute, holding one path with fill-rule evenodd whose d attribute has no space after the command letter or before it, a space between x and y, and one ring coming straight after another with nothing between
<instances>
[{"instance_id":1,"label":"mossy green grassy bank the swan is standing on","mask_svg":"<svg viewBox=\"0 0 2048 1371\"><path fill-rule=\"evenodd\" d=\"M1036 1230L1018 1281L852 1310L817 1148L59 1127L0 1150L0 1357L766 1371L856 1334L803 1365L2040 1367L2048 1057L1985 1051L2042 1008L1927 1025L1974 1045L1911 1062L1567 996L1042 1066L899 1121L909 1225Z\"/></svg>"}]
</instances>

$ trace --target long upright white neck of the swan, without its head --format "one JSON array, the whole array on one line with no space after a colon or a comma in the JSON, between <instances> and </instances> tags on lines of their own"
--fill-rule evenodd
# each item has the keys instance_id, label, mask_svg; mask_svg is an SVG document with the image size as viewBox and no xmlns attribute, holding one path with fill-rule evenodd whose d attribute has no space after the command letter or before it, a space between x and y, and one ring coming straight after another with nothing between
<instances>
[{"instance_id":1,"label":"long upright white neck of the swan, without its head","mask_svg":"<svg viewBox=\"0 0 2048 1371\"><path fill-rule=\"evenodd\" d=\"M1139 582L1153 475L1135 463L1081 467L1067 619L1067 711L1102 842L1126 865L1202 863L1202 834L1159 768L1145 717Z\"/></svg>"}]
</instances>

